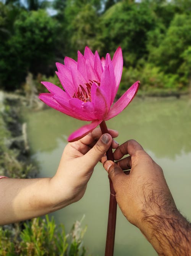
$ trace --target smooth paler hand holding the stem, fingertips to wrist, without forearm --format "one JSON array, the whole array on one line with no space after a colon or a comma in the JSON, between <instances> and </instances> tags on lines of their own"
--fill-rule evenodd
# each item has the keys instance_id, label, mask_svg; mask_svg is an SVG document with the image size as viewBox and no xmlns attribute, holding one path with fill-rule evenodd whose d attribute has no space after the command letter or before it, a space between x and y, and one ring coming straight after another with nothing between
<instances>
[{"instance_id":1,"label":"smooth paler hand holding the stem, fingertips to wrist, without forearm","mask_svg":"<svg viewBox=\"0 0 191 256\"><path fill-rule=\"evenodd\" d=\"M50 184L53 186L53 196L57 199L55 207L68 205L83 197L95 165L104 156L110 145L117 148L118 143L112 138L118 136L115 130L108 130L102 135L100 129L95 129L84 138L68 143L55 176Z\"/></svg>"}]
</instances>

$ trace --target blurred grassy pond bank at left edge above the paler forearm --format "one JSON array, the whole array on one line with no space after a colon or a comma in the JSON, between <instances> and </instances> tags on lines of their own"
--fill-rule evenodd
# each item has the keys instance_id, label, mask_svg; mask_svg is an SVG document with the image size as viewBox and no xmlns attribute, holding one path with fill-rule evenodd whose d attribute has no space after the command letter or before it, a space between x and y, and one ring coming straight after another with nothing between
<instances>
[{"instance_id":1,"label":"blurred grassy pond bank at left edge above the paler forearm","mask_svg":"<svg viewBox=\"0 0 191 256\"><path fill-rule=\"evenodd\" d=\"M0 92L0 175L30 178L37 167L30 159L27 125L21 118L23 96Z\"/></svg>"}]
</instances>

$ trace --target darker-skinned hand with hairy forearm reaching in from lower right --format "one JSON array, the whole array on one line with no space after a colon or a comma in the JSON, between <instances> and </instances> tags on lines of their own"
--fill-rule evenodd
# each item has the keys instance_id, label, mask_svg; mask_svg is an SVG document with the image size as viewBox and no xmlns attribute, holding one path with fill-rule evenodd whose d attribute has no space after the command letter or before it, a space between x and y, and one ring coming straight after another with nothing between
<instances>
[{"instance_id":1,"label":"darker-skinned hand with hairy forearm reaching in from lower right","mask_svg":"<svg viewBox=\"0 0 191 256\"><path fill-rule=\"evenodd\" d=\"M178 212L161 167L134 140L120 145L113 156L116 163L105 157L102 162L125 217L160 255L191 255L191 226Z\"/></svg>"}]
</instances>

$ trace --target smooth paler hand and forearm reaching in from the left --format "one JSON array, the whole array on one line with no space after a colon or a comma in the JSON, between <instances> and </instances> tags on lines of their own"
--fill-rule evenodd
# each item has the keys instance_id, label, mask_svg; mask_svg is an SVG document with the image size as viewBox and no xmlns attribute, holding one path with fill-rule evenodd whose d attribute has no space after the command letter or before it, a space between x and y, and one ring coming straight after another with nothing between
<instances>
[{"instance_id":1,"label":"smooth paler hand and forearm reaching in from the left","mask_svg":"<svg viewBox=\"0 0 191 256\"><path fill-rule=\"evenodd\" d=\"M95 129L68 143L52 178L0 179L0 225L45 215L81 199L97 162L111 144L118 147L112 140L118 132L109 133Z\"/></svg>"}]
</instances>

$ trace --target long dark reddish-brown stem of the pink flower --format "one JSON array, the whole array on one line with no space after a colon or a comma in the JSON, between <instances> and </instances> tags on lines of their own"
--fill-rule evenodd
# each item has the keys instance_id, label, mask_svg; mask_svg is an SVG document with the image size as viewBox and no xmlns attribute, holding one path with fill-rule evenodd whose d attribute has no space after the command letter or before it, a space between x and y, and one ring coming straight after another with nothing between
<instances>
[{"instance_id":1,"label":"long dark reddish-brown stem of the pink flower","mask_svg":"<svg viewBox=\"0 0 191 256\"><path fill-rule=\"evenodd\" d=\"M105 121L102 121L102 123L100 123L100 128L102 133L108 133L107 125ZM108 160L114 161L112 146L110 146L106 155ZM113 184L111 179L109 179L109 184L110 184L110 201L109 201L105 256L113 256L114 242L115 242L116 214L117 214L117 202L116 202L115 191L113 189Z\"/></svg>"}]
</instances>

